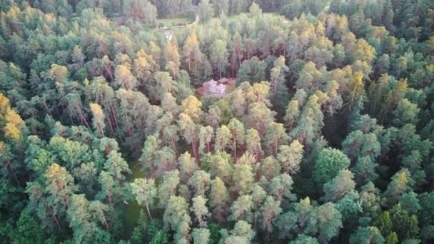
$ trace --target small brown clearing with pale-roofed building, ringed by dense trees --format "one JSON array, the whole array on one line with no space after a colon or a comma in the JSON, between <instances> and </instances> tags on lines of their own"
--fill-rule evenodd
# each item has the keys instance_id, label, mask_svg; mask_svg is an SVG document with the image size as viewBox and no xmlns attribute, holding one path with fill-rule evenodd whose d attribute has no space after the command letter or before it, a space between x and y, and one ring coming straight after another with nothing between
<instances>
[{"instance_id":1,"label":"small brown clearing with pale-roofed building, ringed by dense trees","mask_svg":"<svg viewBox=\"0 0 434 244\"><path fill-rule=\"evenodd\" d=\"M206 81L203 85L196 89L196 93L201 96L216 96L223 98L235 86L236 78L221 78L218 81L213 79Z\"/></svg>"}]
</instances>

